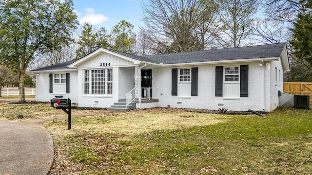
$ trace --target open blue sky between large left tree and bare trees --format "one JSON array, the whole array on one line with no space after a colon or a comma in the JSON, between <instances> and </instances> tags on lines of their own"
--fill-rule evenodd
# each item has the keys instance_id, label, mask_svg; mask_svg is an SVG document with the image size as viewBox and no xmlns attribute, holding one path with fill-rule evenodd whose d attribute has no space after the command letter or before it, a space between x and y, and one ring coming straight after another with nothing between
<instances>
[{"instance_id":1,"label":"open blue sky between large left tree and bare trees","mask_svg":"<svg viewBox=\"0 0 312 175\"><path fill-rule=\"evenodd\" d=\"M141 21L143 0L73 0L75 12L80 24L89 22L105 27L111 31L120 20L126 20L134 25L135 30L143 26ZM145 0L146 1L146 0Z\"/></svg>"}]
</instances>

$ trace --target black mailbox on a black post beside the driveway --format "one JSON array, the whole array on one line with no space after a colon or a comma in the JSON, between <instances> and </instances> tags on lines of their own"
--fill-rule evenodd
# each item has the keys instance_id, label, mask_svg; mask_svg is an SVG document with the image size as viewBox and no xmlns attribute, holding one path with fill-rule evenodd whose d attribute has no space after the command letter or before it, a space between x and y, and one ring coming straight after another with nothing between
<instances>
[{"instance_id":1,"label":"black mailbox on a black post beside the driveway","mask_svg":"<svg viewBox=\"0 0 312 175\"><path fill-rule=\"evenodd\" d=\"M55 96L51 99L51 107L56 109L62 109L68 115L68 129L71 129L72 125L72 102L69 98L63 96ZM66 110L68 109L68 110Z\"/></svg>"}]
</instances>

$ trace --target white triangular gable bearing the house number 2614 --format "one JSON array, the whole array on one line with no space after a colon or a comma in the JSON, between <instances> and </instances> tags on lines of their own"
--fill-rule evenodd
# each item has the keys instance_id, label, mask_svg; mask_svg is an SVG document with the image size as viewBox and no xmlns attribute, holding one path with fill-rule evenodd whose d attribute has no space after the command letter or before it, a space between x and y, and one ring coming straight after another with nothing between
<instances>
[{"instance_id":1,"label":"white triangular gable bearing the house number 2614","mask_svg":"<svg viewBox=\"0 0 312 175\"><path fill-rule=\"evenodd\" d=\"M93 58L85 61L77 66L77 68L92 68L100 66L124 66L133 65L134 62L120 58L109 53L99 53Z\"/></svg>"}]
</instances>

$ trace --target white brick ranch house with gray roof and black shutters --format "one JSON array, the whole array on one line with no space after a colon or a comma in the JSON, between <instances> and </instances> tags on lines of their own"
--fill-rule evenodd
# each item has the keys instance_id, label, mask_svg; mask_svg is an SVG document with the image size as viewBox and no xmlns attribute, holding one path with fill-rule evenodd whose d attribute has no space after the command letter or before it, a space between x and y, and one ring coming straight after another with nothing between
<instances>
[{"instance_id":1,"label":"white brick ranch house with gray roof and black shutters","mask_svg":"<svg viewBox=\"0 0 312 175\"><path fill-rule=\"evenodd\" d=\"M279 43L149 56L100 48L32 72L42 102L63 95L81 107L117 110L170 105L268 112L279 106L289 70L287 46Z\"/></svg>"}]
</instances>

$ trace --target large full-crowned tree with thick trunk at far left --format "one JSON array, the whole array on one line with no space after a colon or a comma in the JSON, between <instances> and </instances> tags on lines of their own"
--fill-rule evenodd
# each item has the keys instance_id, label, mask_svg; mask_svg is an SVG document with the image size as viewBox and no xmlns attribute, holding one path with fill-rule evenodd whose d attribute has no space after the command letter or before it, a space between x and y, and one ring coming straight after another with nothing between
<instances>
[{"instance_id":1,"label":"large full-crowned tree with thick trunk at far left","mask_svg":"<svg viewBox=\"0 0 312 175\"><path fill-rule=\"evenodd\" d=\"M20 101L24 79L37 54L68 45L78 24L72 0L1 0L0 61L17 70Z\"/></svg>"}]
</instances>

